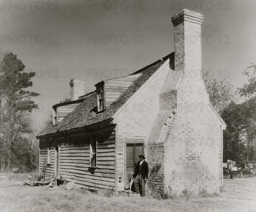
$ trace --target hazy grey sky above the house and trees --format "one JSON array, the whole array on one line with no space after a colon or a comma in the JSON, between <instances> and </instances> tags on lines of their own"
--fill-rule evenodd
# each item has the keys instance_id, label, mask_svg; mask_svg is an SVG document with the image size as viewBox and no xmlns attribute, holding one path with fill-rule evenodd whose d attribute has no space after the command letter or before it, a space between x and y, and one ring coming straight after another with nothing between
<instances>
[{"instance_id":1,"label":"hazy grey sky above the house and trees","mask_svg":"<svg viewBox=\"0 0 256 212\"><path fill-rule=\"evenodd\" d=\"M256 1L1 0L1 50L35 71L29 90L42 126L52 105L70 92L72 78L99 81L127 76L174 51L172 16L181 9L204 15L202 68L241 87L256 61Z\"/></svg>"}]
</instances>

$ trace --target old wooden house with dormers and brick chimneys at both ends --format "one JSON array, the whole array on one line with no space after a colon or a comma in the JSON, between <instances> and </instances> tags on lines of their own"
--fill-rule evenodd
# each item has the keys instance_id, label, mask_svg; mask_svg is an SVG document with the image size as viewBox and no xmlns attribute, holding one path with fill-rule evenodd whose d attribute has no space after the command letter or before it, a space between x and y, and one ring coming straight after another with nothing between
<instances>
[{"instance_id":1,"label":"old wooden house with dormers and brick chimneys at both ends","mask_svg":"<svg viewBox=\"0 0 256 212\"><path fill-rule=\"evenodd\" d=\"M70 82L72 101L53 106L40 139L40 168L88 189L124 191L138 155L149 164L148 188L209 192L222 186L222 131L201 77L203 15L183 9L172 17L175 52L121 78Z\"/></svg>"}]
</instances>

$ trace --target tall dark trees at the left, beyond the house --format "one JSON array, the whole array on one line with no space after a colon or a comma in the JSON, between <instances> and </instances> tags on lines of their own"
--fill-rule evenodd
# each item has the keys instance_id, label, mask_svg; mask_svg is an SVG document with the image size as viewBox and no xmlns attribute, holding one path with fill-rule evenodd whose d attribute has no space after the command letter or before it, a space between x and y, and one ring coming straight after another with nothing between
<instances>
[{"instance_id":1,"label":"tall dark trees at the left, beyond the house","mask_svg":"<svg viewBox=\"0 0 256 212\"><path fill-rule=\"evenodd\" d=\"M32 87L34 72L25 72L17 55L0 54L0 170L31 171L38 167L39 144L30 115L38 105L31 97L39 96Z\"/></svg>"}]
</instances>

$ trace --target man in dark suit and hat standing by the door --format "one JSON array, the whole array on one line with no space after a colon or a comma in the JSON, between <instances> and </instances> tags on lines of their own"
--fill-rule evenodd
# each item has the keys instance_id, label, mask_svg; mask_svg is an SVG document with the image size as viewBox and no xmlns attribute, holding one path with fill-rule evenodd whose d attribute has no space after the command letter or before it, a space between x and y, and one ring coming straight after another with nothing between
<instances>
[{"instance_id":1,"label":"man in dark suit and hat standing by the door","mask_svg":"<svg viewBox=\"0 0 256 212\"><path fill-rule=\"evenodd\" d=\"M148 178L148 163L145 161L145 155L140 154L140 161L136 164L135 170L132 175L135 176L134 179L134 188L137 194L140 194L141 197L145 197L145 183Z\"/></svg>"}]
</instances>

